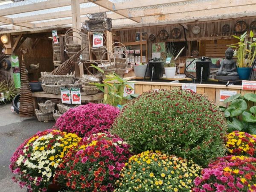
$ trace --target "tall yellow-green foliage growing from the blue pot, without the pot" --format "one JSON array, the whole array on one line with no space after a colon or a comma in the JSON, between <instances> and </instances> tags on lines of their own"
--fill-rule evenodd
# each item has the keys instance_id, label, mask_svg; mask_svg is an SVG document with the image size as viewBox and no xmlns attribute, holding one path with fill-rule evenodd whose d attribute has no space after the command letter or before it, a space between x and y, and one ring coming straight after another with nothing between
<instances>
[{"instance_id":1,"label":"tall yellow-green foliage growing from the blue pot, without the pot","mask_svg":"<svg viewBox=\"0 0 256 192\"><path fill-rule=\"evenodd\" d=\"M253 38L254 33L250 31L250 38ZM237 57L237 66L238 67L251 67L253 64L253 60L256 55L256 38L253 38L253 42L245 41L247 37L247 32L239 36L233 35L234 38L239 39L237 44L228 45L228 47L232 47L236 49L236 57ZM249 44L249 48L247 49L247 44Z\"/></svg>"}]
</instances>

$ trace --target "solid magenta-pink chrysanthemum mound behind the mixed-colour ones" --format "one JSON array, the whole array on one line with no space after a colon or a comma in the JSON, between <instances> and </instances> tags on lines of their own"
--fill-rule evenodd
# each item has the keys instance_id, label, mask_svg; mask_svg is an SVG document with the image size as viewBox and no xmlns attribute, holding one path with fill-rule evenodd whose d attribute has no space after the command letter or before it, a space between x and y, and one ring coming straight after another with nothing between
<instances>
[{"instance_id":1,"label":"solid magenta-pink chrysanthemum mound behind the mixed-colour ones","mask_svg":"<svg viewBox=\"0 0 256 192\"><path fill-rule=\"evenodd\" d=\"M119 109L111 105L88 103L72 108L58 118L54 128L80 137L108 131Z\"/></svg>"}]
</instances>

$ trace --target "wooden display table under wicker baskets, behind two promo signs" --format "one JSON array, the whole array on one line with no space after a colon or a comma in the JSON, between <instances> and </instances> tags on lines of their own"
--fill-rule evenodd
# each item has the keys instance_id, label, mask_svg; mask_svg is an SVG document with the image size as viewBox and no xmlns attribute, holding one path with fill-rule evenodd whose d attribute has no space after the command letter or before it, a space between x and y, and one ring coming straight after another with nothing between
<instances>
[{"instance_id":1,"label":"wooden display table under wicker baskets, behind two promo signs","mask_svg":"<svg viewBox=\"0 0 256 192\"><path fill-rule=\"evenodd\" d=\"M81 101L82 102L85 102L85 101L94 102L94 101L97 101L99 99L103 99L103 94L104 93L100 92L100 93L97 93L95 95L87 95L86 93L82 92L81 93ZM32 99L33 99L33 102L34 102L34 108L35 109L38 109L38 101L37 101L38 97L61 99L61 94L55 95L55 94L45 93L43 91L41 91L41 92L32 92Z\"/></svg>"}]
</instances>

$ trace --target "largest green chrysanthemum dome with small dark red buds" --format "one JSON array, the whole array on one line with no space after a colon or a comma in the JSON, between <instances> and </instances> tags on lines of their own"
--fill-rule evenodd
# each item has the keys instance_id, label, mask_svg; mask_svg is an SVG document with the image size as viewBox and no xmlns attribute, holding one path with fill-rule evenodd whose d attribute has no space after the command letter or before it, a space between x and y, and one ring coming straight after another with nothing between
<instances>
[{"instance_id":1,"label":"largest green chrysanthemum dome with small dark red buds","mask_svg":"<svg viewBox=\"0 0 256 192\"><path fill-rule=\"evenodd\" d=\"M185 90L143 93L128 103L111 132L135 153L160 150L200 165L224 156L226 119L206 96Z\"/></svg>"}]
</instances>

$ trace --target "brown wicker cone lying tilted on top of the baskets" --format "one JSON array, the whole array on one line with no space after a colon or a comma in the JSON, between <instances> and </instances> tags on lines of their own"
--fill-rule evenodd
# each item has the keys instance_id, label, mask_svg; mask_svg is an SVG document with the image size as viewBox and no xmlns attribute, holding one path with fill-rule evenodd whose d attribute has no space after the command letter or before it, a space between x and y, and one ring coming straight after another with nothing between
<instances>
[{"instance_id":1,"label":"brown wicker cone lying tilted on top of the baskets","mask_svg":"<svg viewBox=\"0 0 256 192\"><path fill-rule=\"evenodd\" d=\"M78 58L84 49L85 49L85 47L83 49L81 49L79 52L76 52L72 57L70 57L63 64L58 66L55 70L53 70L51 72L51 75L58 75L58 76L67 75L67 73L70 72L70 69L73 66L73 64L75 64L78 61Z\"/></svg>"}]
</instances>

